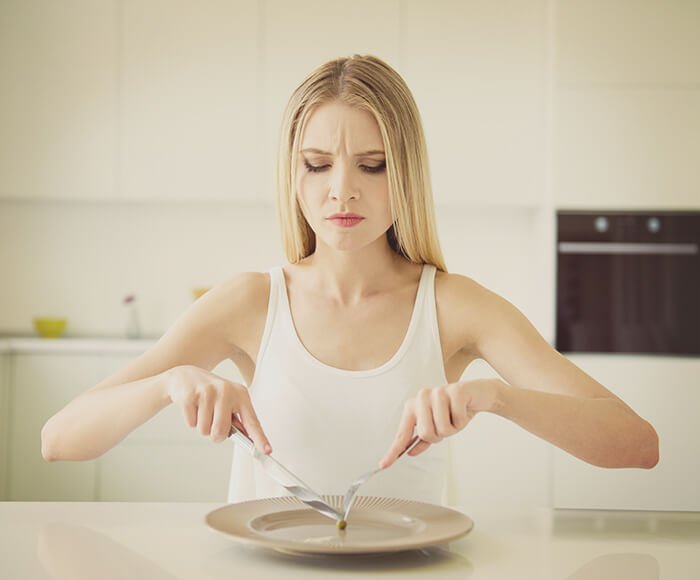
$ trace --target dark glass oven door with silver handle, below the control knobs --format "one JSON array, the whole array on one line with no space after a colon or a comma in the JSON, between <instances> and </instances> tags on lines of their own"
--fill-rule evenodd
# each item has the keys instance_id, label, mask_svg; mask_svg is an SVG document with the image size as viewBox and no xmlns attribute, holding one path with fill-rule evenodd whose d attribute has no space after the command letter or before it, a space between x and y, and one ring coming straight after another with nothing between
<instances>
[{"instance_id":1,"label":"dark glass oven door with silver handle, below the control knobs","mask_svg":"<svg viewBox=\"0 0 700 580\"><path fill-rule=\"evenodd\" d=\"M700 355L696 243L559 242L562 352Z\"/></svg>"}]
</instances>

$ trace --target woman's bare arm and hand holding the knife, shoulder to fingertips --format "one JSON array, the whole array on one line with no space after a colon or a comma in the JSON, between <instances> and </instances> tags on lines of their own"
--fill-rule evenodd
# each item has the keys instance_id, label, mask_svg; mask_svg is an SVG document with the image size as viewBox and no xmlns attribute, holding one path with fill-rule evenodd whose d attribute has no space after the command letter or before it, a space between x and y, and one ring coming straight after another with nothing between
<instances>
[{"instance_id":1,"label":"woman's bare arm and hand holding the knife, shoulder to fingertips","mask_svg":"<svg viewBox=\"0 0 700 580\"><path fill-rule=\"evenodd\" d=\"M263 452L267 441L247 388L211 373L238 345L261 335L269 278L239 274L197 300L146 353L79 395L41 432L47 461L93 459L175 403L190 427L226 438L235 415Z\"/></svg>"}]
</instances>

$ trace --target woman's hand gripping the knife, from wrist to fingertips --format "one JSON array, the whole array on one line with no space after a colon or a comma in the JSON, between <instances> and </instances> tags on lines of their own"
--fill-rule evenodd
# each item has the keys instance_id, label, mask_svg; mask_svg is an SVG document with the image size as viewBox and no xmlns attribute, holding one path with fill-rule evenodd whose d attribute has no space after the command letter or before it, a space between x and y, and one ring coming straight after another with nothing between
<instances>
[{"instance_id":1,"label":"woman's hand gripping the knife, from wrist to fingertips","mask_svg":"<svg viewBox=\"0 0 700 580\"><path fill-rule=\"evenodd\" d=\"M180 407L189 427L221 442L229 436L233 423L261 453L272 451L244 385L194 365L176 366L163 374L168 396Z\"/></svg>"}]
</instances>

